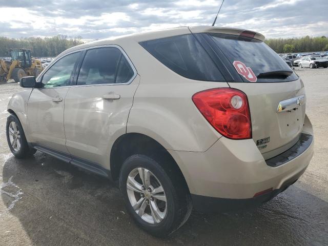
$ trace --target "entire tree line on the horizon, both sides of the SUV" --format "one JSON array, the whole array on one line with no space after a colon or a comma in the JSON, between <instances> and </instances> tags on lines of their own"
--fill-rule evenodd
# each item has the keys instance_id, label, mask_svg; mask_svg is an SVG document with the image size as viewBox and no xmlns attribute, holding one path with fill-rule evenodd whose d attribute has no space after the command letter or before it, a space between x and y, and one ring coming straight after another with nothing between
<instances>
[{"instance_id":1,"label":"entire tree line on the horizon, both sides of the SUV","mask_svg":"<svg viewBox=\"0 0 328 246\"><path fill-rule=\"evenodd\" d=\"M32 56L56 56L60 52L76 45L83 44L81 37L69 38L65 35L54 37L0 37L0 56L8 56L7 51L12 48L32 50ZM328 38L296 37L296 38L269 38L265 40L277 53L328 51Z\"/></svg>"}]
</instances>

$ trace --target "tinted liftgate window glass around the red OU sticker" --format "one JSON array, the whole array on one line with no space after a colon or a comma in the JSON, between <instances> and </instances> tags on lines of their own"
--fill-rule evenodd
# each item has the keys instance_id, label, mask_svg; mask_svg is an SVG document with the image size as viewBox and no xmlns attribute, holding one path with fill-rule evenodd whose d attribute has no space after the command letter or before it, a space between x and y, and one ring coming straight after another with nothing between
<instances>
[{"instance_id":1,"label":"tinted liftgate window glass around the red OU sticker","mask_svg":"<svg viewBox=\"0 0 328 246\"><path fill-rule=\"evenodd\" d=\"M271 71L292 71L288 64L273 51L268 45L261 40L243 37L231 34L209 33L217 47L227 56L230 63L241 61L246 67L253 70L255 76L260 73ZM243 81L249 82L243 78ZM258 78L257 82L284 82L298 79L298 76L293 72L290 76L277 76L272 78Z\"/></svg>"}]
</instances>

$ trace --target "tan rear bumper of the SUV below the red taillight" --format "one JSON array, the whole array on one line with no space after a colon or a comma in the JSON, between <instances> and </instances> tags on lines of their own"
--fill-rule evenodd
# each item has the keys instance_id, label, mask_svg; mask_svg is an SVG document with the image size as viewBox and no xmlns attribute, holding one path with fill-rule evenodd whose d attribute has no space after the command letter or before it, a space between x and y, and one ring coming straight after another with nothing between
<instances>
[{"instance_id":1,"label":"tan rear bumper of the SUV below the red taillight","mask_svg":"<svg viewBox=\"0 0 328 246\"><path fill-rule=\"evenodd\" d=\"M313 136L307 116L303 133ZM186 178L195 208L199 208L199 203L203 206L217 203L216 207L222 207L221 203L226 207L230 201L245 204L270 200L288 187L308 167L314 153L314 140L311 137L311 142L299 155L276 167L268 165L253 139L232 140L221 137L206 152L169 152ZM253 198L256 193L264 190L272 192ZM231 204L229 206L234 207Z\"/></svg>"}]
</instances>

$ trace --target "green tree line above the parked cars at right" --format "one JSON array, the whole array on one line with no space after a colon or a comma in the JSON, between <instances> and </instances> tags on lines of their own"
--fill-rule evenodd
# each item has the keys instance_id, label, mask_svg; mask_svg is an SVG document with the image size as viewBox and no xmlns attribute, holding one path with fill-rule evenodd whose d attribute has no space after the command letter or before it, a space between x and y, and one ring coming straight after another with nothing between
<instances>
[{"instance_id":1,"label":"green tree line above the parked cars at right","mask_svg":"<svg viewBox=\"0 0 328 246\"><path fill-rule=\"evenodd\" d=\"M277 53L328 51L328 38L321 37L295 37L295 38L269 38L265 43Z\"/></svg>"}]
</instances>

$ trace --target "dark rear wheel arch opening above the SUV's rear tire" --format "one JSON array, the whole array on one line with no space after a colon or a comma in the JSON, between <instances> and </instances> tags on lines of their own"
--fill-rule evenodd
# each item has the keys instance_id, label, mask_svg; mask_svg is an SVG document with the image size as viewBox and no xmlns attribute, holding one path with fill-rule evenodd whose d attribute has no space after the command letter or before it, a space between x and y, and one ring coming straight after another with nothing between
<instances>
[{"instance_id":1,"label":"dark rear wheel arch opening above the SUV's rear tire","mask_svg":"<svg viewBox=\"0 0 328 246\"><path fill-rule=\"evenodd\" d=\"M168 172L178 173L189 191L187 181L171 154L155 139L141 133L127 133L116 139L110 153L110 171L113 180L118 180L124 161L134 155L143 154L159 163Z\"/></svg>"}]
</instances>

